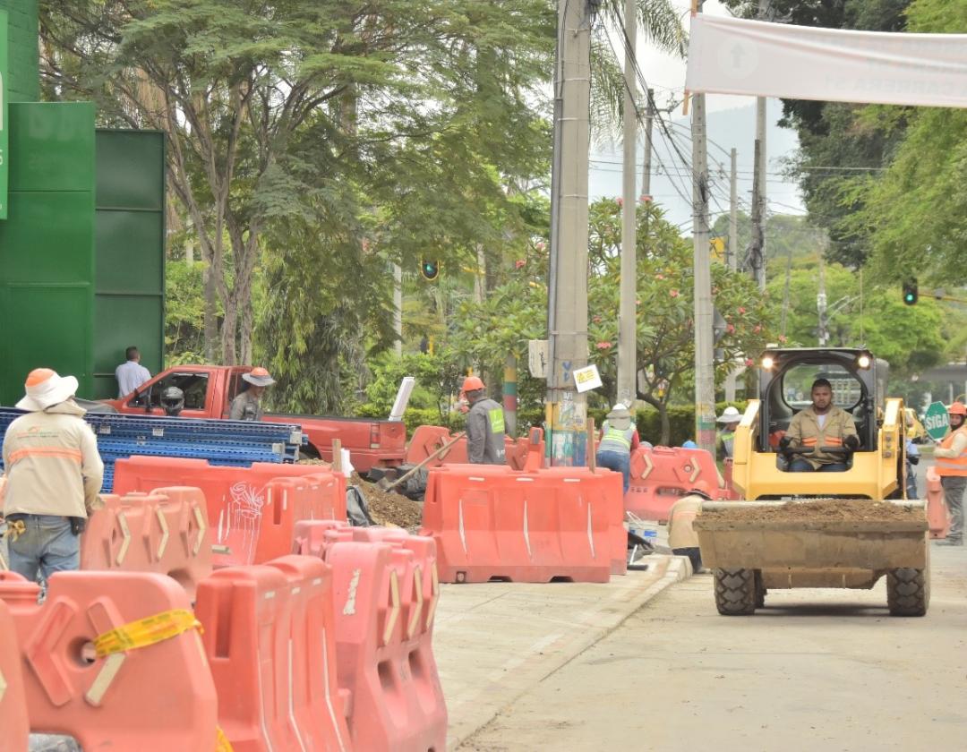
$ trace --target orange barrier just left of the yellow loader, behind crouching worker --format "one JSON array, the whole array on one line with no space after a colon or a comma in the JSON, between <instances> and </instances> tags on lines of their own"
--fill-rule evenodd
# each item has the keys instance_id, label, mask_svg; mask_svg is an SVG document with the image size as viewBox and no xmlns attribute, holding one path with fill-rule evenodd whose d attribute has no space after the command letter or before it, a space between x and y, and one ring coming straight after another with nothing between
<instances>
[{"instance_id":1,"label":"orange barrier just left of the yellow loader, behind crouching worker","mask_svg":"<svg viewBox=\"0 0 967 752\"><path fill-rule=\"evenodd\" d=\"M704 449L636 448L625 508L643 520L667 522L671 506L699 480L718 488L716 463Z\"/></svg>"}]
</instances>

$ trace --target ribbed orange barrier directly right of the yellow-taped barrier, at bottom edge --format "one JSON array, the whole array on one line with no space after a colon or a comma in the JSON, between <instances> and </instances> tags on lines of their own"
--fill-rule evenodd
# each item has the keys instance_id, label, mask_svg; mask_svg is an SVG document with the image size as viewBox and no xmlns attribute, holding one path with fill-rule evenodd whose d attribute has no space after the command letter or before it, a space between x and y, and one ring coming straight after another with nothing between
<instances>
[{"instance_id":1,"label":"ribbed orange barrier directly right of the yellow-taped barrier, at bottom edge","mask_svg":"<svg viewBox=\"0 0 967 752\"><path fill-rule=\"evenodd\" d=\"M220 569L199 586L195 613L236 752L351 749L329 565L285 556Z\"/></svg>"}]
</instances>

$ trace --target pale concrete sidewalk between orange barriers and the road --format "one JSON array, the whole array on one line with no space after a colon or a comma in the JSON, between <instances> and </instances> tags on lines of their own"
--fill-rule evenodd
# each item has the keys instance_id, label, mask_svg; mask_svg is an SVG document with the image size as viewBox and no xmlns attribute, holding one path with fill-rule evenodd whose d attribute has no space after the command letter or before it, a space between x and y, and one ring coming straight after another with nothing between
<instances>
[{"instance_id":1,"label":"pale concrete sidewalk between orange barriers and the road","mask_svg":"<svg viewBox=\"0 0 967 752\"><path fill-rule=\"evenodd\" d=\"M689 561L654 555L607 584L444 585L433 653L456 749L502 709L687 579Z\"/></svg>"}]
</instances>

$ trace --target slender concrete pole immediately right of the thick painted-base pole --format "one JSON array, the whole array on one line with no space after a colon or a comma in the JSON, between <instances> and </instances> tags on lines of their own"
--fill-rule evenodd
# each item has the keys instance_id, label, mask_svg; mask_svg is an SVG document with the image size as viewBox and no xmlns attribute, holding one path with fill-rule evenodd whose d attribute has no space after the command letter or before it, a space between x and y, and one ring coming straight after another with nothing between
<instances>
[{"instance_id":1,"label":"slender concrete pole immediately right of the thick painted-base pole","mask_svg":"<svg viewBox=\"0 0 967 752\"><path fill-rule=\"evenodd\" d=\"M624 203L621 212L621 314L618 328L618 402L629 407L636 395L635 378L638 372L637 337L637 181L635 152L638 145L638 109L635 84L634 49L637 39L638 15L635 0L625 0L625 30L628 33L625 49L625 163L622 168Z\"/></svg>"}]
</instances>

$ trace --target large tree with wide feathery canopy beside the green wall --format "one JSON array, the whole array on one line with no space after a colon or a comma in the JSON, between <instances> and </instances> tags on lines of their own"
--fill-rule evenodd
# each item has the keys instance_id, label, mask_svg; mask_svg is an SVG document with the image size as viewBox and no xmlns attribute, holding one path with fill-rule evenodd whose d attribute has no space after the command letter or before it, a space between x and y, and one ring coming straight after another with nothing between
<instances>
[{"instance_id":1,"label":"large tree with wide feathery canopy beside the green wall","mask_svg":"<svg viewBox=\"0 0 967 752\"><path fill-rule=\"evenodd\" d=\"M391 185L398 195L433 185L412 166L411 182L391 183L389 167L462 163L432 148L469 135L454 123L454 94L474 73L494 75L498 92L510 79L519 94L514 79L545 68L552 18L544 0L46 2L45 90L95 99L104 123L167 132L169 188L208 265L206 355L249 361L262 240L285 235L273 225L345 211L334 233L344 236L364 214L352 199L366 206ZM476 70L486 55L475 53L491 49L505 53L494 58L502 67ZM489 115L519 116L503 103L487 101ZM512 143L488 125L479 130L489 142ZM384 169L387 152L398 159ZM403 223L399 234L413 230Z\"/></svg>"}]
</instances>

